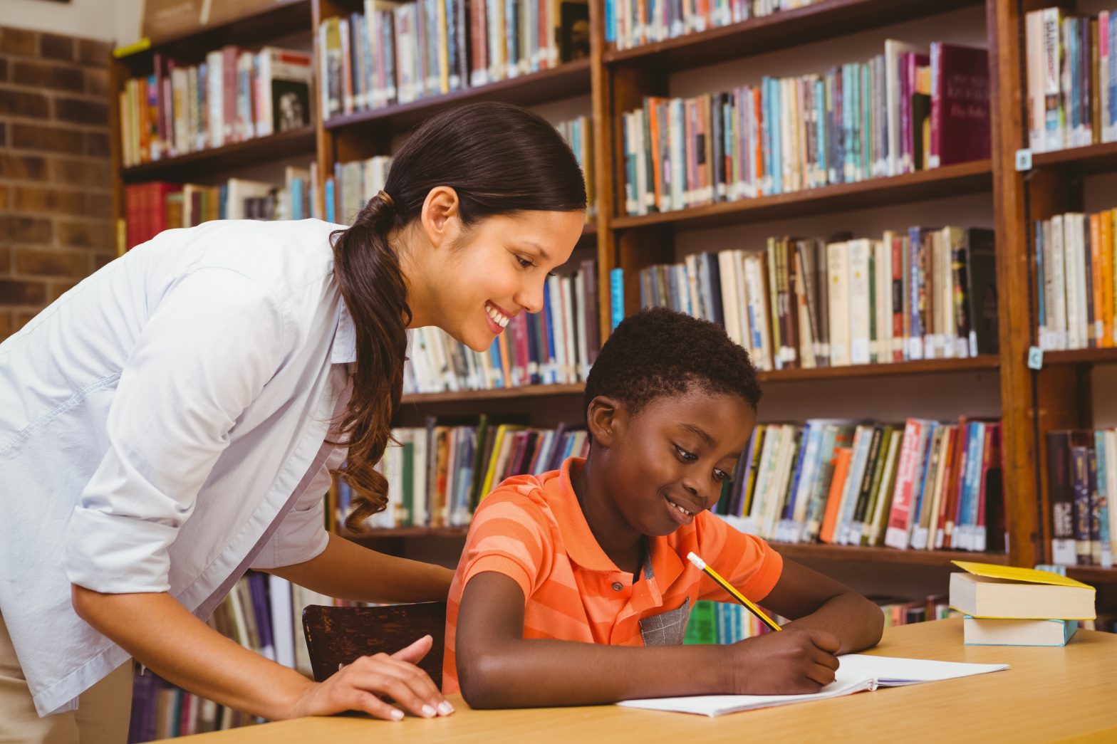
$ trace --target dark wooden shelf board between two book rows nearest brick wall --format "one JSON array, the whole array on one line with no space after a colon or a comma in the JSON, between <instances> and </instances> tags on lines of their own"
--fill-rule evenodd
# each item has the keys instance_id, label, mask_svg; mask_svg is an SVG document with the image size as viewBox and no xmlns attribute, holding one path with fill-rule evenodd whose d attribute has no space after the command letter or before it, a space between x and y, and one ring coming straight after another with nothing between
<instances>
[{"instance_id":1,"label":"dark wooden shelf board between two book rows nearest brick wall","mask_svg":"<svg viewBox=\"0 0 1117 744\"><path fill-rule=\"evenodd\" d=\"M236 142L223 147L199 150L179 158L154 160L125 168L125 183L139 181L209 180L214 172L226 172L246 165L278 162L288 158L314 158L314 126Z\"/></svg>"}]
</instances>

